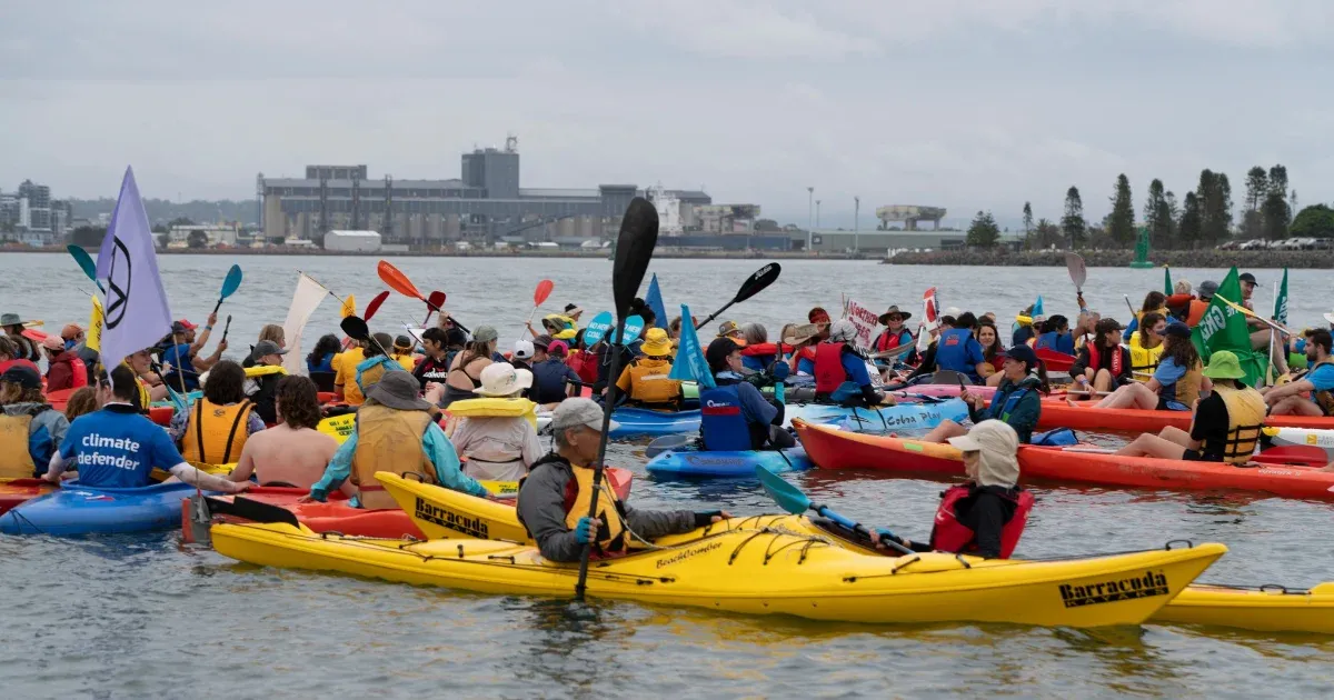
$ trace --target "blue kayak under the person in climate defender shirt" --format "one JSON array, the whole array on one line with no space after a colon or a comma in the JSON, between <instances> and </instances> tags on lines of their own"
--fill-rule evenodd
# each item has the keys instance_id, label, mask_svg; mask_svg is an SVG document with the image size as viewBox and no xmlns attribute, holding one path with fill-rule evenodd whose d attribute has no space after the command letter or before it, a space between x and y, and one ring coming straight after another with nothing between
<instances>
[{"instance_id":1,"label":"blue kayak under the person in climate defender shirt","mask_svg":"<svg viewBox=\"0 0 1334 700\"><path fill-rule=\"evenodd\" d=\"M183 483L100 488L67 481L59 491L0 516L0 532L89 535L179 528L180 500L193 492L195 487Z\"/></svg>"}]
</instances>

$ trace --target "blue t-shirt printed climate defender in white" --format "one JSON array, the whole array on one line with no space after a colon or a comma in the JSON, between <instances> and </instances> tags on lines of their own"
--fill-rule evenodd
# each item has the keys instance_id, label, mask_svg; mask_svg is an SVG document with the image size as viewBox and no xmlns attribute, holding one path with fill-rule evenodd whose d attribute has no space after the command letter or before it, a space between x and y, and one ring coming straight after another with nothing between
<instances>
[{"instance_id":1,"label":"blue t-shirt printed climate defender in white","mask_svg":"<svg viewBox=\"0 0 1334 700\"><path fill-rule=\"evenodd\" d=\"M120 404L79 416L60 443L60 456L79 469L79 483L115 488L145 487L153 467L185 461L167 431Z\"/></svg>"}]
</instances>

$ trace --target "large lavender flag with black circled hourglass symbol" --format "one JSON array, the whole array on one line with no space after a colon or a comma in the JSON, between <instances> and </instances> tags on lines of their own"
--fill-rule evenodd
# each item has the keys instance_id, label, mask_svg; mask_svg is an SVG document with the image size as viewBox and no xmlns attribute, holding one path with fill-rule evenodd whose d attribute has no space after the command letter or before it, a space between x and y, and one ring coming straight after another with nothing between
<instances>
[{"instance_id":1,"label":"large lavender flag with black circled hourglass symbol","mask_svg":"<svg viewBox=\"0 0 1334 700\"><path fill-rule=\"evenodd\" d=\"M151 348L171 333L171 308L157 273L153 232L132 168L125 168L116 209L97 252L97 277L107 280L99 344L103 367L109 372L127 355Z\"/></svg>"}]
</instances>

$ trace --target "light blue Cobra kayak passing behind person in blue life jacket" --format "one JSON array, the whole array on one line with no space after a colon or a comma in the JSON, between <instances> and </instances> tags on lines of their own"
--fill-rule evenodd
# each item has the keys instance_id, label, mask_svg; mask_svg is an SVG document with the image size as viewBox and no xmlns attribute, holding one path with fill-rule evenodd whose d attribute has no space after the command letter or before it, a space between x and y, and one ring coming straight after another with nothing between
<instances>
[{"instance_id":1,"label":"light blue Cobra kayak passing behind person in blue life jacket","mask_svg":"<svg viewBox=\"0 0 1334 700\"><path fill-rule=\"evenodd\" d=\"M783 425L790 425L795 417L815 424L839 423L843 429L854 432L912 431L935 428L946 419L960 423L968 417L968 405L962 399L948 399L936 404L899 404L876 409L828 404L787 404ZM611 431L614 440L699 431L699 411L618 408L611 419L620 424L615 431Z\"/></svg>"}]
</instances>

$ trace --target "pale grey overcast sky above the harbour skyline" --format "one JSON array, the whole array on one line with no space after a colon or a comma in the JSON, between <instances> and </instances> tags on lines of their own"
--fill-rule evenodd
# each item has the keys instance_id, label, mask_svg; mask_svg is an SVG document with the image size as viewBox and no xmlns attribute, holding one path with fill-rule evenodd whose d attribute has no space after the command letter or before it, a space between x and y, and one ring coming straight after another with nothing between
<instances>
[{"instance_id":1,"label":"pale grey overcast sky above the harbour skyline","mask_svg":"<svg viewBox=\"0 0 1334 700\"><path fill-rule=\"evenodd\" d=\"M1334 200L1334 3L1243 0L0 4L0 188L252 197L308 163L524 187L662 181L806 223L883 204L1090 219L1117 173L1282 163Z\"/></svg>"}]
</instances>

